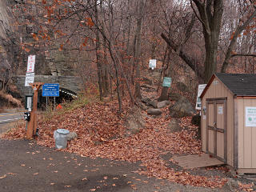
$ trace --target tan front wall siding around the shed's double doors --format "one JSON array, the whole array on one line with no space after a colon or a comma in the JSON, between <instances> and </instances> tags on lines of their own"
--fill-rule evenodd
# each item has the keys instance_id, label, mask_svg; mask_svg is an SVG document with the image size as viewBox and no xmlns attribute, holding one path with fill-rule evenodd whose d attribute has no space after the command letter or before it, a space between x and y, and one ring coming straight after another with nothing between
<instances>
[{"instance_id":1,"label":"tan front wall siding around the shed's double doors","mask_svg":"<svg viewBox=\"0 0 256 192\"><path fill-rule=\"evenodd\" d=\"M217 83L216 83L217 81ZM202 107L206 106L206 98L227 98L227 164L234 166L234 104L233 94L226 86L214 78L206 94L202 98ZM206 119L202 116L202 150L206 151Z\"/></svg>"}]
</instances>

